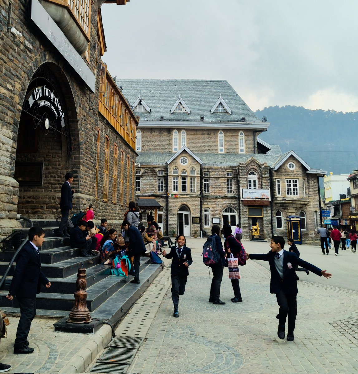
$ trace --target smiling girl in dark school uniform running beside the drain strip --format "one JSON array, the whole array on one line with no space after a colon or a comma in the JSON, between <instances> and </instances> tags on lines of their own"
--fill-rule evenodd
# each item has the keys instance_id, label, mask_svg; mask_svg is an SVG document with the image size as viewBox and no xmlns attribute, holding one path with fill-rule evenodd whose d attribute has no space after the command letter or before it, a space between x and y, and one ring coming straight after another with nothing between
<instances>
[{"instance_id":1,"label":"smiling girl in dark school uniform running beside the drain strip","mask_svg":"<svg viewBox=\"0 0 358 374\"><path fill-rule=\"evenodd\" d=\"M185 236L179 235L175 239L175 244L171 247L170 252L166 253L165 250L162 250L162 255L165 258L168 258L172 261L172 266L170 270L172 278L172 300L174 304L174 313L175 318L179 317L179 295L184 295L185 285L189 275L188 267L193 263L192 252L190 248L185 245Z\"/></svg>"}]
</instances>

